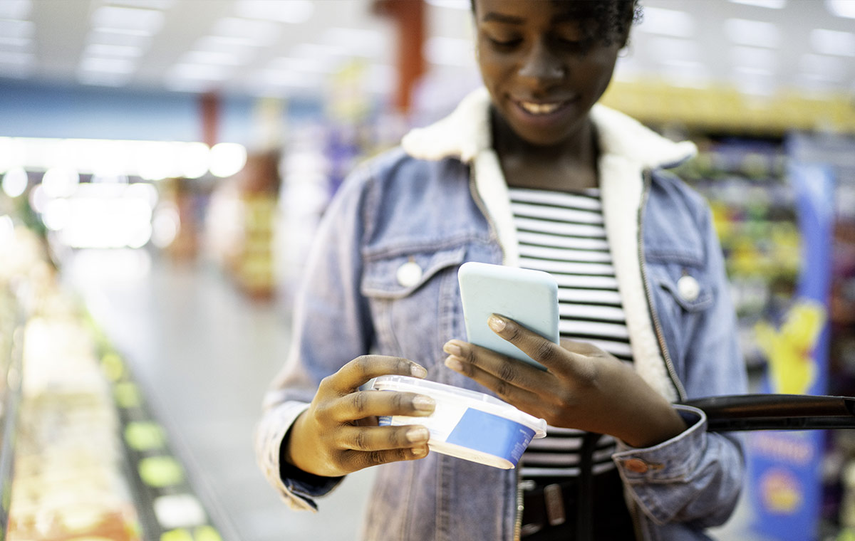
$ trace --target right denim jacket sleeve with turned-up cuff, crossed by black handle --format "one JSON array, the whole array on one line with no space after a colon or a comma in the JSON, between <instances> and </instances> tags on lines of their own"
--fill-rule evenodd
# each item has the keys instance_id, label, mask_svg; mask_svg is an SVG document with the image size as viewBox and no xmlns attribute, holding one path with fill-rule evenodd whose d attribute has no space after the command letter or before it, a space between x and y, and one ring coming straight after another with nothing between
<instances>
[{"instance_id":1,"label":"right denim jacket sleeve with turned-up cuff, crossed by black handle","mask_svg":"<svg viewBox=\"0 0 855 541\"><path fill-rule=\"evenodd\" d=\"M746 392L745 364L740 352L736 314L730 299L722 250L706 205L698 214L705 244L705 272L716 286L711 306L687 337L681 374L687 398ZM728 520L739 499L744 478L741 438L734 433L707 432L699 409L675 406L687 430L647 449L619 442L614 456L634 504L657 524L672 522L705 528Z\"/></svg>"}]
</instances>

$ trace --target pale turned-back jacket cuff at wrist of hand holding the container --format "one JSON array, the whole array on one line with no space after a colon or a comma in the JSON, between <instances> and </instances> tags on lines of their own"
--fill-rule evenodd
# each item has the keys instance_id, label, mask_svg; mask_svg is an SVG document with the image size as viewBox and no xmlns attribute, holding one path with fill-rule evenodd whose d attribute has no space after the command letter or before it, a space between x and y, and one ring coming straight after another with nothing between
<instances>
[{"instance_id":1,"label":"pale turned-back jacket cuff at wrist of hand holding the container","mask_svg":"<svg viewBox=\"0 0 855 541\"><path fill-rule=\"evenodd\" d=\"M256 456L268 483L291 508L316 511L316 497L327 495L343 477L321 477L280 461L282 443L308 403L280 403L265 412L256 428Z\"/></svg>"}]
</instances>

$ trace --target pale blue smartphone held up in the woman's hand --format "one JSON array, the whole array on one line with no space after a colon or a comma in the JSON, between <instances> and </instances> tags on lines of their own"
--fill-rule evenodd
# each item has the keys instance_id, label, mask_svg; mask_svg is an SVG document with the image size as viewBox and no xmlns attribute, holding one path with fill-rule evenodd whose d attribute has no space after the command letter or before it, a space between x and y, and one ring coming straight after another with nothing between
<instances>
[{"instance_id":1,"label":"pale blue smartphone held up in the woman's hand","mask_svg":"<svg viewBox=\"0 0 855 541\"><path fill-rule=\"evenodd\" d=\"M540 362L492 332L486 321L491 314L504 315L558 344L558 284L551 274L467 262L457 271L457 281L468 341L545 370Z\"/></svg>"}]
</instances>

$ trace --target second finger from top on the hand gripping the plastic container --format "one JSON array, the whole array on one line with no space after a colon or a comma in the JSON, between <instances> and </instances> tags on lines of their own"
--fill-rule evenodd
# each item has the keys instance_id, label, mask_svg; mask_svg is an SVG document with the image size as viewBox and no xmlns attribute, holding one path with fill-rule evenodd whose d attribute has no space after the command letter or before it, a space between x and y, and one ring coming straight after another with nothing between
<instances>
[{"instance_id":1,"label":"second finger from top on the hand gripping the plastic container","mask_svg":"<svg viewBox=\"0 0 855 541\"><path fill-rule=\"evenodd\" d=\"M329 418L339 423L353 423L365 417L383 415L431 415L436 406L431 397L415 392L357 391L327 405Z\"/></svg>"}]
</instances>

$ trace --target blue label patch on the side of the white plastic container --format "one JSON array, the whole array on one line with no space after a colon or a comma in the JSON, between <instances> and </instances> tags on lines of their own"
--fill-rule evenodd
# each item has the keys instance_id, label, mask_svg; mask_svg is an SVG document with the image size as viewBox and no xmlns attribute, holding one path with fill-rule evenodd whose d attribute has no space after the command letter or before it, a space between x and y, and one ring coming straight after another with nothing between
<instances>
[{"instance_id":1,"label":"blue label patch on the side of the white plastic container","mask_svg":"<svg viewBox=\"0 0 855 541\"><path fill-rule=\"evenodd\" d=\"M534 430L528 426L469 408L445 441L500 456L516 466L532 438Z\"/></svg>"}]
</instances>

